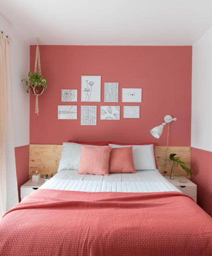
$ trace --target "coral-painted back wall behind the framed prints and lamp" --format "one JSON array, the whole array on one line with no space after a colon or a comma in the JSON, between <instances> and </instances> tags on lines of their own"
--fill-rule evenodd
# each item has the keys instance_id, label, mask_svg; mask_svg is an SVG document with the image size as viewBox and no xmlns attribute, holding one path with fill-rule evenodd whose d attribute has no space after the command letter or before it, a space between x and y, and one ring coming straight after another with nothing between
<instances>
[{"instance_id":1,"label":"coral-painted back wall behind the framed prints and lamp","mask_svg":"<svg viewBox=\"0 0 212 256\"><path fill-rule=\"evenodd\" d=\"M34 70L36 46L30 47ZM40 46L41 70L48 88L30 93L30 144L81 141L155 142L166 145L167 126L157 140L150 129L170 124L170 146L190 146L192 46ZM80 102L81 75L102 76L102 102ZM119 102L104 102L104 82L119 83ZM142 103L122 103L122 88L142 88ZM78 102L61 102L61 89L78 89ZM58 105L78 105L78 120L58 120ZM100 120L100 105L120 105L119 121ZM97 126L80 126L80 106L97 105ZM123 119L124 105L139 105L140 119Z\"/></svg>"}]
</instances>

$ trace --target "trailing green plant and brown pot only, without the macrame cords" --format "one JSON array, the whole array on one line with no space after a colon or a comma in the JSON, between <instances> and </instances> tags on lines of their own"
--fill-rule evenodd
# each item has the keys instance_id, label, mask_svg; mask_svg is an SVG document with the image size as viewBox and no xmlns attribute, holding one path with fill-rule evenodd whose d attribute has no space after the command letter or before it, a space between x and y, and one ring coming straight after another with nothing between
<instances>
[{"instance_id":1,"label":"trailing green plant and brown pot only, without the macrame cords","mask_svg":"<svg viewBox=\"0 0 212 256\"><path fill-rule=\"evenodd\" d=\"M41 95L48 85L46 78L40 72L29 72L28 76L28 80L22 79L27 86L26 92L29 93L31 90L32 94Z\"/></svg>"}]
</instances>

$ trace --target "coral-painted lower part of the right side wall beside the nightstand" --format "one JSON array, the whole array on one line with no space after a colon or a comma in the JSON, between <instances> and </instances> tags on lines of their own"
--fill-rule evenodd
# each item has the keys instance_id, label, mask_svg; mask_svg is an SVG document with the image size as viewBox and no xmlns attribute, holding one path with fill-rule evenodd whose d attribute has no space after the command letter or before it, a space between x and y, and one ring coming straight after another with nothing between
<instances>
[{"instance_id":1,"label":"coral-painted lower part of the right side wall beside the nightstand","mask_svg":"<svg viewBox=\"0 0 212 256\"><path fill-rule=\"evenodd\" d=\"M191 180L197 184L197 203L212 216L212 152L192 148L191 153Z\"/></svg>"}]
</instances>

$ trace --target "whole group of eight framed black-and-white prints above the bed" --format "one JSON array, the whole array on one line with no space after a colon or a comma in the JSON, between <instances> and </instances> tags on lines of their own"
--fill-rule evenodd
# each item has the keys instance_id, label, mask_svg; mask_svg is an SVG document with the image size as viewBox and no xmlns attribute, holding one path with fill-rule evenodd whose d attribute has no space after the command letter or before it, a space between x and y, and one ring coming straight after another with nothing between
<instances>
[{"instance_id":1,"label":"whole group of eight framed black-and-white prints above the bed","mask_svg":"<svg viewBox=\"0 0 212 256\"><path fill-rule=\"evenodd\" d=\"M81 102L101 101L101 76L81 76ZM76 89L62 89L62 102L78 102ZM104 83L104 102L118 102L118 82ZM142 102L142 88L122 88L122 102ZM103 102L102 102L103 103ZM81 125L97 125L97 106L81 105ZM123 106L124 118L140 118L140 106ZM77 105L58 105L58 119L77 119ZM100 120L120 120L120 106L100 106Z\"/></svg>"}]
</instances>

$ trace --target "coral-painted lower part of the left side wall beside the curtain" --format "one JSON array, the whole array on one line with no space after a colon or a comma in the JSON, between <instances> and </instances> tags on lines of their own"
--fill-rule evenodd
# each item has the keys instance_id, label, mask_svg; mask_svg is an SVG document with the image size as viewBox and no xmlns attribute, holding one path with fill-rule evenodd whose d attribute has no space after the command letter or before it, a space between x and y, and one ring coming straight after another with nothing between
<instances>
[{"instance_id":1,"label":"coral-painted lower part of the left side wall beside the curtain","mask_svg":"<svg viewBox=\"0 0 212 256\"><path fill-rule=\"evenodd\" d=\"M16 175L18 182L18 197L20 201L20 186L29 180L29 145L15 148Z\"/></svg>"}]
</instances>

